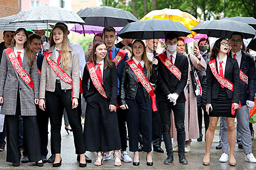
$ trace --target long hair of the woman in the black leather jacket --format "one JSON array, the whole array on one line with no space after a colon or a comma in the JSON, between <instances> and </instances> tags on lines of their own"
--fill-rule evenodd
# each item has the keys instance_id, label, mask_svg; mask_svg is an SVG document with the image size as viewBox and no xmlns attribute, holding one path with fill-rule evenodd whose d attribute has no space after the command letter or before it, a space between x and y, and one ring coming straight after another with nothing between
<instances>
[{"instance_id":1,"label":"long hair of the woman in the black leather jacket","mask_svg":"<svg viewBox=\"0 0 256 170\"><path fill-rule=\"evenodd\" d=\"M146 52L146 47L145 47L145 44L144 44L144 42L142 40L138 40L137 39L137 40L133 41L133 43L132 43L132 55L131 55L131 58L134 56L133 45L135 44L135 42L140 42L142 44L143 48L144 48L143 49L143 54L142 54L142 60L144 61L144 64L145 64L145 66L147 68L147 78L149 79L150 76L151 76L151 73L152 73L152 62L149 61L149 59L148 59L147 52Z\"/></svg>"}]
</instances>

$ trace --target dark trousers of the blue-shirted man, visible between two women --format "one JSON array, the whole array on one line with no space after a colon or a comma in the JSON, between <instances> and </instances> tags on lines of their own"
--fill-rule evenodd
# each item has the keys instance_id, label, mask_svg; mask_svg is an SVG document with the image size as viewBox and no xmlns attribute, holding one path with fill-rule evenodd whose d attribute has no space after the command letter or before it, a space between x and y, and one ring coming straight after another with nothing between
<instances>
[{"instance_id":1,"label":"dark trousers of the blue-shirted man, visible between two women","mask_svg":"<svg viewBox=\"0 0 256 170\"><path fill-rule=\"evenodd\" d=\"M120 106L120 96L117 97L117 102ZM117 118L121 140L121 151L125 151L127 148L126 110L117 108Z\"/></svg>"}]
</instances>

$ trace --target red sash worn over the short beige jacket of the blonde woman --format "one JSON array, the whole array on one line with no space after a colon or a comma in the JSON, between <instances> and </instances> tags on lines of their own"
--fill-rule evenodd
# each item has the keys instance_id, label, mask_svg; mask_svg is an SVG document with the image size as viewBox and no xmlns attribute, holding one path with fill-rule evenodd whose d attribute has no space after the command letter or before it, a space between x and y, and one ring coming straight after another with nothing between
<instances>
[{"instance_id":1,"label":"red sash worn over the short beige jacket of the blonde woman","mask_svg":"<svg viewBox=\"0 0 256 170\"><path fill-rule=\"evenodd\" d=\"M58 66L56 62L50 59L50 56L52 53L48 53L49 50L47 50L44 55L48 62L48 64L51 66L52 70L58 75L60 79L62 79L65 83L72 85L72 92L71 92L71 100L73 100L73 81L69 74L67 74L62 68Z\"/></svg>"}]
</instances>

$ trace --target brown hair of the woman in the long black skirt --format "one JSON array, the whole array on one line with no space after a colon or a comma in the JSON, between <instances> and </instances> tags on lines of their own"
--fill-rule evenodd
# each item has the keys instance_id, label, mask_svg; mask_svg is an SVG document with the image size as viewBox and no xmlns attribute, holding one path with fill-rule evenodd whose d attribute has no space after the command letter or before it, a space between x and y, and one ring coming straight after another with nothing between
<instances>
[{"instance_id":1,"label":"brown hair of the woman in the long black skirt","mask_svg":"<svg viewBox=\"0 0 256 170\"><path fill-rule=\"evenodd\" d=\"M97 62L96 62L96 48L97 46L99 45L105 45L106 48L107 48L107 45L106 45L106 42L105 41L96 41L93 45L93 51L92 51L92 57L89 58L89 62L93 62L94 66L97 65ZM113 65L111 64L111 60L108 58L108 53L106 54L105 58L104 58L104 70L109 66L109 67L112 67Z\"/></svg>"}]
</instances>

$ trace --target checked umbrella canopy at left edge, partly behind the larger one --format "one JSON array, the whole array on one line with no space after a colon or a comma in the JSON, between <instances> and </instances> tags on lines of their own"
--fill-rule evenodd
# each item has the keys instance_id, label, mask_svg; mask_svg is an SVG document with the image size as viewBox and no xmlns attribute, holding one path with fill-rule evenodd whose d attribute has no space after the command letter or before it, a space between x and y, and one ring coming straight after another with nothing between
<instances>
[{"instance_id":1,"label":"checked umbrella canopy at left edge, partly behind the larger one","mask_svg":"<svg viewBox=\"0 0 256 170\"><path fill-rule=\"evenodd\" d=\"M7 17L2 17L0 18L0 30L10 30L10 31L15 31L18 28L25 28L25 29L36 29L36 30L41 30L41 29L47 29L47 25L44 23L10 23L12 20L16 18L16 15L10 15ZM48 29L52 29L52 27L48 26Z\"/></svg>"}]
</instances>

